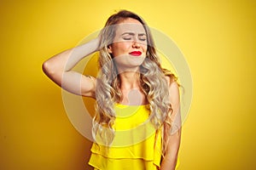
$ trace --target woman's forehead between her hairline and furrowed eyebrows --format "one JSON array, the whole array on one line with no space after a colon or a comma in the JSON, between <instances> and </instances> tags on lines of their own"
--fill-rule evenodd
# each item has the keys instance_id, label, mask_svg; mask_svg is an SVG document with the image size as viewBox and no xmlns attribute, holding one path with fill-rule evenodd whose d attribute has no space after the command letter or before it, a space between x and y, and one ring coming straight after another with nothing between
<instances>
[{"instance_id":1,"label":"woman's forehead between her hairline and furrowed eyebrows","mask_svg":"<svg viewBox=\"0 0 256 170\"><path fill-rule=\"evenodd\" d=\"M130 18L123 20L118 25L116 25L116 35L120 35L125 32L146 33L140 21Z\"/></svg>"}]
</instances>

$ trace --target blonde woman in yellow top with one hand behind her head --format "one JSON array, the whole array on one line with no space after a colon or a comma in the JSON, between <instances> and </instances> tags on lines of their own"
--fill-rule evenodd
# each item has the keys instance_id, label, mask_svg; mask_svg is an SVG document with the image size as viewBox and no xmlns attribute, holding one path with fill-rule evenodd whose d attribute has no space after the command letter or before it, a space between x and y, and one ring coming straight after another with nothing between
<instances>
[{"instance_id":1,"label":"blonde woman in yellow top with one hand behind her head","mask_svg":"<svg viewBox=\"0 0 256 170\"><path fill-rule=\"evenodd\" d=\"M99 51L99 76L73 67ZM89 164L95 169L168 169L177 164L181 127L176 77L160 65L137 14L113 14L99 37L44 62L61 88L96 99Z\"/></svg>"}]
</instances>

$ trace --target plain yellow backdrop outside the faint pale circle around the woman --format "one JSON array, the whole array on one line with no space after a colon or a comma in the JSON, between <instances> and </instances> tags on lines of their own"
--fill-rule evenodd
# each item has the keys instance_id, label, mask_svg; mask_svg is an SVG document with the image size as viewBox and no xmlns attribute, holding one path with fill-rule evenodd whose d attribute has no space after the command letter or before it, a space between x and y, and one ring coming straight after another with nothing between
<instances>
[{"instance_id":1,"label":"plain yellow backdrop outside the faint pale circle around the woman","mask_svg":"<svg viewBox=\"0 0 256 170\"><path fill-rule=\"evenodd\" d=\"M172 37L193 76L182 170L254 169L255 1L1 1L0 169L90 169L45 59L130 9Z\"/></svg>"}]
</instances>

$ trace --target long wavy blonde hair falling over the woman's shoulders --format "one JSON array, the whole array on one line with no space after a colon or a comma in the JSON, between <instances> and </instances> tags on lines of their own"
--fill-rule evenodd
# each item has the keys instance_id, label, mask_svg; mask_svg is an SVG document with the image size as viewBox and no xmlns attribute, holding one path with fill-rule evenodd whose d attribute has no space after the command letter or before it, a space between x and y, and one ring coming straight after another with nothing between
<instances>
[{"instance_id":1,"label":"long wavy blonde hair falling over the woman's shoulders","mask_svg":"<svg viewBox=\"0 0 256 170\"><path fill-rule=\"evenodd\" d=\"M120 102L122 93L120 90L120 79L117 68L113 62L113 57L108 53L108 46L113 43L115 36L115 25L122 20L132 18L138 20L144 27L147 35L147 52L146 59L140 65L140 85L149 104L150 122L156 129L164 127L164 134L171 132L172 105L169 101L168 82L166 76L170 77L170 81L176 81L176 77L171 71L163 69L160 65L160 59L154 48L154 41L146 22L137 14L127 10L121 10L117 14L110 16L106 25L100 33L100 57L99 67L100 73L96 83L96 115L93 119L92 133L96 138L99 134L104 140L104 144L110 145L114 138L113 123L115 113L113 109L114 103ZM157 130L159 133L160 130ZM166 139L163 141L162 150L165 153Z\"/></svg>"}]
</instances>

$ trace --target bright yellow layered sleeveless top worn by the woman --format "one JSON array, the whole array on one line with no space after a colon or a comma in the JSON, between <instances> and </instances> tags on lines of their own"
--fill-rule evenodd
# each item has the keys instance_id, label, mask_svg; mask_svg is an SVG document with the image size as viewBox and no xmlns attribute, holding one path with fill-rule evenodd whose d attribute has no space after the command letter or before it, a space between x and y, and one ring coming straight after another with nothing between
<instances>
[{"instance_id":1,"label":"bright yellow layered sleeveless top worn by the woman","mask_svg":"<svg viewBox=\"0 0 256 170\"><path fill-rule=\"evenodd\" d=\"M90 166L100 170L157 170L161 159L161 136L148 119L148 105L116 104L114 109L113 143L110 147L94 143Z\"/></svg>"}]
</instances>

